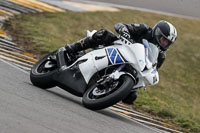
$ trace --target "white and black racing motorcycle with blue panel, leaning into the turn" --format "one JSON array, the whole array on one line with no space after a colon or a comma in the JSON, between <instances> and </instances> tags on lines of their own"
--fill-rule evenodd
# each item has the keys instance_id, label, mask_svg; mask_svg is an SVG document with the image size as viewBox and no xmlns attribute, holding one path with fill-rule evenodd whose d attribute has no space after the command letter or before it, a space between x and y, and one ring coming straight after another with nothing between
<instances>
[{"instance_id":1,"label":"white and black racing motorcycle with blue panel, leaning into the turn","mask_svg":"<svg viewBox=\"0 0 200 133\"><path fill-rule=\"evenodd\" d=\"M89 32L92 36L95 31ZM31 69L33 85L43 89L58 86L82 97L91 110L116 104L131 91L159 82L156 69L158 47L143 40L134 43L118 36L113 45L80 51L74 56L62 47L40 59Z\"/></svg>"}]
</instances>

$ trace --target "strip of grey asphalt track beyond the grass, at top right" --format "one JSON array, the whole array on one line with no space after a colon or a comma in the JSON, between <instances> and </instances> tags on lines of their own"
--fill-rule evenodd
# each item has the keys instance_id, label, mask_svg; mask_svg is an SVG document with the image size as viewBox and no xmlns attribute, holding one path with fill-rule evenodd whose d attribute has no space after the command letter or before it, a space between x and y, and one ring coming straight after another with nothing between
<instances>
[{"instance_id":1,"label":"strip of grey asphalt track beyond the grass, at top right","mask_svg":"<svg viewBox=\"0 0 200 133\"><path fill-rule=\"evenodd\" d=\"M200 18L200 0L72 0L112 3L157 13Z\"/></svg>"}]
</instances>

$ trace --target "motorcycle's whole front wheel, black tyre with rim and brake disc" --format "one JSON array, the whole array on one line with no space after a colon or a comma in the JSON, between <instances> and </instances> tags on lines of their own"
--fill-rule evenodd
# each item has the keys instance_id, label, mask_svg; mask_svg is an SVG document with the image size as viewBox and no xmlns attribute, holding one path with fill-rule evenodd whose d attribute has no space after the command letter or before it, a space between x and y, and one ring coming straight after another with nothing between
<instances>
[{"instance_id":1,"label":"motorcycle's whole front wheel, black tyre with rim and brake disc","mask_svg":"<svg viewBox=\"0 0 200 133\"><path fill-rule=\"evenodd\" d=\"M131 91L134 82L128 75L122 75L108 88L100 89L97 84L92 85L84 93L82 102L86 108L100 110L116 104Z\"/></svg>"}]
</instances>

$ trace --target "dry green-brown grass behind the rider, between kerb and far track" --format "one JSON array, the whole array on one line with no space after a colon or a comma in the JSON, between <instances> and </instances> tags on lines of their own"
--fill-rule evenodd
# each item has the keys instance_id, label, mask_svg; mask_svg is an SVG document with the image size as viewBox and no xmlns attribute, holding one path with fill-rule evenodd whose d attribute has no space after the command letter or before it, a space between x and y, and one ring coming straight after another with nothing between
<instances>
[{"instance_id":1,"label":"dry green-brown grass behind the rider, between kerb and far track","mask_svg":"<svg viewBox=\"0 0 200 133\"><path fill-rule=\"evenodd\" d=\"M178 39L168 50L167 59L159 70L159 84L147 87L146 91L140 90L134 107L178 122L191 132L200 132L200 20L133 10L67 11L16 16L6 22L5 28L17 42L24 42L23 46L29 45L38 54L64 46L66 41L75 42L85 37L86 30L114 32L114 24L118 22L153 26L161 19L175 25Z\"/></svg>"}]
</instances>

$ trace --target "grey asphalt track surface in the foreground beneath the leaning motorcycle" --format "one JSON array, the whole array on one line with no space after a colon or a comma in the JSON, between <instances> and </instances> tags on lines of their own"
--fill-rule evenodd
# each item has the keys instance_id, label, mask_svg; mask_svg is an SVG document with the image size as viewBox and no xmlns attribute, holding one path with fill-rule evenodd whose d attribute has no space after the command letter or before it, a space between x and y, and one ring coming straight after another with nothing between
<instances>
[{"instance_id":1,"label":"grey asphalt track surface in the foreground beneath the leaning motorcycle","mask_svg":"<svg viewBox=\"0 0 200 133\"><path fill-rule=\"evenodd\" d=\"M109 109L91 111L59 88L42 90L0 60L1 133L155 133Z\"/></svg>"}]
</instances>

